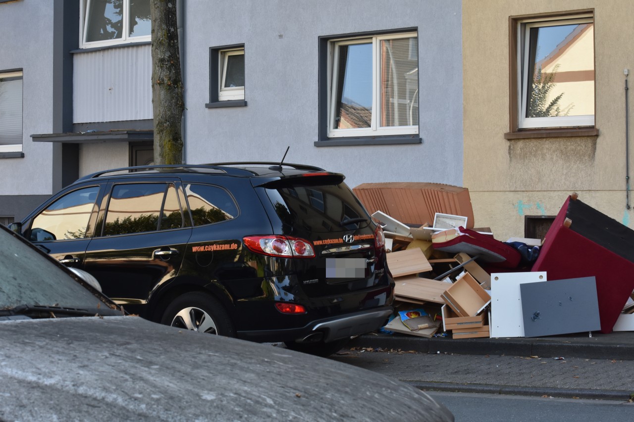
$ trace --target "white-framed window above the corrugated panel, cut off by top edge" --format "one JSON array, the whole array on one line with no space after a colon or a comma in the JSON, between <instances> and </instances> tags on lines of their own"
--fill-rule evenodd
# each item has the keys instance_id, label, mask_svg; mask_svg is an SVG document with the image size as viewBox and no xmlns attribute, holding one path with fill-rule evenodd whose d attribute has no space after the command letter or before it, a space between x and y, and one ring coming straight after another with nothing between
<instances>
[{"instance_id":1,"label":"white-framed window above the corrugated panel, cut off by top edge","mask_svg":"<svg viewBox=\"0 0 634 422\"><path fill-rule=\"evenodd\" d=\"M82 48L150 41L150 0L82 0Z\"/></svg>"}]
</instances>

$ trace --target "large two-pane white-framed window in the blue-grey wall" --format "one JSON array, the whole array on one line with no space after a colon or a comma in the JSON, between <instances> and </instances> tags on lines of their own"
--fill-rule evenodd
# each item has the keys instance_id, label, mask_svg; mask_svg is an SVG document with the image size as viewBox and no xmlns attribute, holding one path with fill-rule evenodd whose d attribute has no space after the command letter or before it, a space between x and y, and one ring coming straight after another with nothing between
<instances>
[{"instance_id":1,"label":"large two-pane white-framed window in the blue-grey wall","mask_svg":"<svg viewBox=\"0 0 634 422\"><path fill-rule=\"evenodd\" d=\"M418 133L416 32L330 41L328 137Z\"/></svg>"}]
</instances>

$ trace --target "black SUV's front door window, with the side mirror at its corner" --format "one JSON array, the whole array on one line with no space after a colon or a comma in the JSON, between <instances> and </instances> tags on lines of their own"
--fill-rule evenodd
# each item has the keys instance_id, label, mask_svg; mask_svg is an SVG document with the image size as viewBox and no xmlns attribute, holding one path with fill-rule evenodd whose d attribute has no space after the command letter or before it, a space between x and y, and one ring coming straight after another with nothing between
<instances>
[{"instance_id":1,"label":"black SUV's front door window, with the side mirror at its corner","mask_svg":"<svg viewBox=\"0 0 634 422\"><path fill-rule=\"evenodd\" d=\"M78 189L51 203L35 217L30 240L72 240L86 238L99 186Z\"/></svg>"}]
</instances>

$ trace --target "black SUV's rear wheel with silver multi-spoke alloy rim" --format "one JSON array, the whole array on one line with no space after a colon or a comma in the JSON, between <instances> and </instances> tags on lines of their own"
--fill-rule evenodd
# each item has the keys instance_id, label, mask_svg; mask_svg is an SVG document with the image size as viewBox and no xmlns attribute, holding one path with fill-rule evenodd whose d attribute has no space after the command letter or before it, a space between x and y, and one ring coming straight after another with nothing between
<instances>
[{"instance_id":1,"label":"black SUV's rear wheel with silver multi-spoke alloy rim","mask_svg":"<svg viewBox=\"0 0 634 422\"><path fill-rule=\"evenodd\" d=\"M160 322L191 331L235 337L231 318L223 305L211 295L198 291L174 299Z\"/></svg>"}]
</instances>

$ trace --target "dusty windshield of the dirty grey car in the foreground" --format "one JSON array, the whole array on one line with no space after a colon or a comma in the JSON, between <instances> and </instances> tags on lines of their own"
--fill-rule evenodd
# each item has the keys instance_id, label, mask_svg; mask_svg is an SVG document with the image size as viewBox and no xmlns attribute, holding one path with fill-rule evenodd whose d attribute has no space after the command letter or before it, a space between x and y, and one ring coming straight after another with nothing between
<instances>
[{"instance_id":1,"label":"dusty windshield of the dirty grey car in the foreground","mask_svg":"<svg viewBox=\"0 0 634 422\"><path fill-rule=\"evenodd\" d=\"M0 227L0 243L0 310L37 305L100 309L100 313L111 314L105 302L4 226Z\"/></svg>"}]
</instances>

